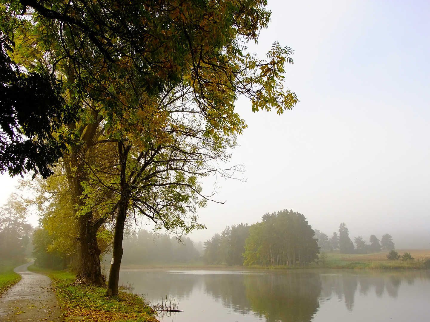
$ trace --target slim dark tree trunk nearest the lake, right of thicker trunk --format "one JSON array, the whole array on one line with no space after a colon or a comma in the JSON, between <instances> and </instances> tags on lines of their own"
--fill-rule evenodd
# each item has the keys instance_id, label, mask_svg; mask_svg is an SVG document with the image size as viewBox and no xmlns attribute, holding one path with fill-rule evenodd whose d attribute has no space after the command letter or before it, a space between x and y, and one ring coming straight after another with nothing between
<instances>
[{"instance_id":1,"label":"slim dark tree trunk nearest the lake, right of thicker trunk","mask_svg":"<svg viewBox=\"0 0 430 322\"><path fill-rule=\"evenodd\" d=\"M118 282L120 279L121 259L123 258L123 238L124 224L127 218L129 207L129 188L126 180L127 158L131 146L125 147L123 142L118 143L118 155L120 157L120 188L121 197L118 204L118 215L115 222L114 246L112 253L111 269L109 270L109 280L107 281L106 295L118 296Z\"/></svg>"}]
</instances>

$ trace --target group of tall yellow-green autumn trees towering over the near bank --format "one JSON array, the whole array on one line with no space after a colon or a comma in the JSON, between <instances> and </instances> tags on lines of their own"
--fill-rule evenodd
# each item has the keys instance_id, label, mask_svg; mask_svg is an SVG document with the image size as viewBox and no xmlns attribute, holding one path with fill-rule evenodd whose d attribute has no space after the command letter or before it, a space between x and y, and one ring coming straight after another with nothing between
<instances>
[{"instance_id":1,"label":"group of tall yellow-green autumn trees towering over the near bank","mask_svg":"<svg viewBox=\"0 0 430 322\"><path fill-rule=\"evenodd\" d=\"M33 172L49 249L77 255L77 279L118 294L124 229L146 216L178 238L209 196L254 112L298 101L284 89L292 50L247 52L270 21L265 0L58 0L0 3L0 169Z\"/></svg>"}]
</instances>

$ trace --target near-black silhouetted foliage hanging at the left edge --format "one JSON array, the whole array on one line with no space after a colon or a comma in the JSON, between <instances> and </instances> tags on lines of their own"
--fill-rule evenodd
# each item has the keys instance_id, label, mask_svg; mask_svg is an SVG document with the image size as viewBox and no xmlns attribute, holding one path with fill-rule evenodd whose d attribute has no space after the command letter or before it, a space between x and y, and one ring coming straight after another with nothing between
<instances>
[{"instance_id":1,"label":"near-black silhouetted foliage hanging at the left edge","mask_svg":"<svg viewBox=\"0 0 430 322\"><path fill-rule=\"evenodd\" d=\"M1 27L6 27L4 23ZM3 29L2 28L2 29ZM3 29L4 30L4 29ZM33 172L43 178L62 157L66 138L54 133L77 117L65 104L62 82L48 71L24 73L7 52L14 42L0 30L0 172Z\"/></svg>"}]
</instances>

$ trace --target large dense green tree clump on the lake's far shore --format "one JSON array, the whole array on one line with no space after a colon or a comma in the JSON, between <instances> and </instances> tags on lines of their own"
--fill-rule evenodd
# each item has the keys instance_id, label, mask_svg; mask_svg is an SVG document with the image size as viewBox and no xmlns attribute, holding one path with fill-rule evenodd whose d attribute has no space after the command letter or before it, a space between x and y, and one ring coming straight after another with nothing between
<instances>
[{"instance_id":1,"label":"large dense green tree clump on the lake's far shore","mask_svg":"<svg viewBox=\"0 0 430 322\"><path fill-rule=\"evenodd\" d=\"M301 213L265 214L251 226L227 227L204 243L207 264L307 266L318 258L315 231Z\"/></svg>"}]
</instances>

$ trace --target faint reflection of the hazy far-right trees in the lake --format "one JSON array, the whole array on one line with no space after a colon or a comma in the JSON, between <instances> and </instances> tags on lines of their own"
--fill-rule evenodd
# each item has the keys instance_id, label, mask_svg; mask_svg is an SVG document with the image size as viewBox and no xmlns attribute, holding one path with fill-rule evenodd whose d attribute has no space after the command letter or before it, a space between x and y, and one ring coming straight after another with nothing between
<instances>
[{"instance_id":1,"label":"faint reflection of the hazy far-right trees in the lake","mask_svg":"<svg viewBox=\"0 0 430 322\"><path fill-rule=\"evenodd\" d=\"M412 285L416 279L429 280L430 272L326 270L320 275L322 285L320 301L328 301L332 296L337 296L339 300L343 298L347 309L352 311L357 288L359 294L363 296L374 290L377 298L381 298L385 292L390 298L397 298L402 283Z\"/></svg>"}]
</instances>

